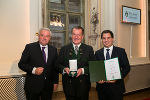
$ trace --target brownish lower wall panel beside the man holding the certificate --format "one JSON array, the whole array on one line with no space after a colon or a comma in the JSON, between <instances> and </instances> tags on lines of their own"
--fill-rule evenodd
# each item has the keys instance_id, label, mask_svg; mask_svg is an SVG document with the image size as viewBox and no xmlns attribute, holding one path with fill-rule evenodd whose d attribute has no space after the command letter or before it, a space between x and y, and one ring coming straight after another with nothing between
<instances>
[{"instance_id":1,"label":"brownish lower wall panel beside the man holding the certificate","mask_svg":"<svg viewBox=\"0 0 150 100\"><path fill-rule=\"evenodd\" d=\"M126 92L132 92L150 87L150 64L131 67L129 75L125 78Z\"/></svg>"}]
</instances>

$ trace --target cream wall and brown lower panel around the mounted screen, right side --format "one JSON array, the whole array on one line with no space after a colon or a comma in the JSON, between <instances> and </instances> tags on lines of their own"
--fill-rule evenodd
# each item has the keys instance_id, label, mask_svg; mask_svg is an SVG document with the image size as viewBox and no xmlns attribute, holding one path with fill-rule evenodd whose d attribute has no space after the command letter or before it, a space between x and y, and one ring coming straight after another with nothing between
<instances>
[{"instance_id":1,"label":"cream wall and brown lower panel around the mounted screen, right side","mask_svg":"<svg viewBox=\"0 0 150 100\"><path fill-rule=\"evenodd\" d=\"M122 5L141 9L141 24L121 23ZM147 0L116 0L117 43L126 49L131 71L125 79L127 92L150 87Z\"/></svg>"}]
</instances>

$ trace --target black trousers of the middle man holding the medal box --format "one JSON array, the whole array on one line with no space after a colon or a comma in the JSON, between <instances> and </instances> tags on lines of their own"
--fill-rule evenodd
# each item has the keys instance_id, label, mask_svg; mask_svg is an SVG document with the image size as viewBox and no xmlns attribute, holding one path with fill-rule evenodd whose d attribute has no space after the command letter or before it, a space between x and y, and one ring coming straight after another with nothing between
<instances>
[{"instance_id":1,"label":"black trousers of the middle man holding the medal box","mask_svg":"<svg viewBox=\"0 0 150 100\"><path fill-rule=\"evenodd\" d=\"M66 100L88 100L90 83L80 78L63 78Z\"/></svg>"}]
</instances>

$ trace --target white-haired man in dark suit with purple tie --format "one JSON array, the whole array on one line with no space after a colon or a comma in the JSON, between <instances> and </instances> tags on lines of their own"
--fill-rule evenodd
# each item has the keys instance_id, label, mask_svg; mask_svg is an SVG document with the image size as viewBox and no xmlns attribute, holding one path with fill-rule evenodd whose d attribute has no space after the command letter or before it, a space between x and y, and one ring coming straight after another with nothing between
<instances>
[{"instance_id":1,"label":"white-haired man in dark suit with purple tie","mask_svg":"<svg viewBox=\"0 0 150 100\"><path fill-rule=\"evenodd\" d=\"M51 100L53 89L57 88L57 49L48 44L50 37L50 30L42 28L38 42L26 45L18 63L19 68L27 73L24 86L27 100Z\"/></svg>"}]
</instances>

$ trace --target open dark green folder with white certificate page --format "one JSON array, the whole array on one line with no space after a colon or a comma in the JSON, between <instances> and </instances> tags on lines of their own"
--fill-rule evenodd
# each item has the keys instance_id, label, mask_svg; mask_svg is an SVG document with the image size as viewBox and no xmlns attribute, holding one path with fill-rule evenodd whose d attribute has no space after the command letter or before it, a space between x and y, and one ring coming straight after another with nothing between
<instances>
[{"instance_id":1,"label":"open dark green folder with white certificate page","mask_svg":"<svg viewBox=\"0 0 150 100\"><path fill-rule=\"evenodd\" d=\"M90 61L89 72L91 82L121 79L118 58L104 61Z\"/></svg>"}]
</instances>

